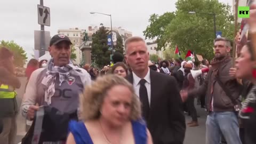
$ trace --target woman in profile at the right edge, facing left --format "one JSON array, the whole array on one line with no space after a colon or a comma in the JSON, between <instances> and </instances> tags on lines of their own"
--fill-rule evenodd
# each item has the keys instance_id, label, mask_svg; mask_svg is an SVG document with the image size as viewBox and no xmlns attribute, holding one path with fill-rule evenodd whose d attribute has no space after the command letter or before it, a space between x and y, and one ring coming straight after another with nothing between
<instances>
[{"instance_id":1,"label":"woman in profile at the right edge, facing left","mask_svg":"<svg viewBox=\"0 0 256 144\"><path fill-rule=\"evenodd\" d=\"M239 117L242 119L244 126L244 143L256 143L256 80L253 77L253 68L256 66L252 59L252 43L247 42L243 46L239 57L236 60L235 76L246 81L251 81L250 85L245 85L244 90L247 96L242 102L242 109L239 111ZM233 68L234 69L234 68Z\"/></svg>"}]
</instances>

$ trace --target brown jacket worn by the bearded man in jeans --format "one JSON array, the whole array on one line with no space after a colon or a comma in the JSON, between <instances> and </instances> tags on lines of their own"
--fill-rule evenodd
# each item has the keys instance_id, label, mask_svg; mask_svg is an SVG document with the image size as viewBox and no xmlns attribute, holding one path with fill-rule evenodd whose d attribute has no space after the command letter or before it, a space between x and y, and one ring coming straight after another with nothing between
<instances>
[{"instance_id":1,"label":"brown jacket worn by the bearded man in jeans","mask_svg":"<svg viewBox=\"0 0 256 144\"><path fill-rule=\"evenodd\" d=\"M229 76L229 69L231 68L231 59L226 60L218 68L218 76L223 85L226 86L231 93L231 97L238 99L241 92L241 85L236 81L236 78ZM206 109L210 110L211 102L213 100L212 111L234 111L234 103L225 93L223 88L216 81L213 69L210 69L204 83L197 89L189 92L189 95L206 95Z\"/></svg>"}]
</instances>

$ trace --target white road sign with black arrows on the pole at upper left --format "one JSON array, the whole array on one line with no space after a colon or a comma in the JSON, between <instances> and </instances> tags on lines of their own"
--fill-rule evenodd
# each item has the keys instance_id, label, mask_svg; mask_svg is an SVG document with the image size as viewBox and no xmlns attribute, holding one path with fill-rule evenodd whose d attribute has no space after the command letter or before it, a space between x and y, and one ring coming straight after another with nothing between
<instances>
[{"instance_id":1,"label":"white road sign with black arrows on the pole at upper left","mask_svg":"<svg viewBox=\"0 0 256 144\"><path fill-rule=\"evenodd\" d=\"M38 12L38 24L44 26L50 26L50 8L37 5L37 12Z\"/></svg>"}]
</instances>

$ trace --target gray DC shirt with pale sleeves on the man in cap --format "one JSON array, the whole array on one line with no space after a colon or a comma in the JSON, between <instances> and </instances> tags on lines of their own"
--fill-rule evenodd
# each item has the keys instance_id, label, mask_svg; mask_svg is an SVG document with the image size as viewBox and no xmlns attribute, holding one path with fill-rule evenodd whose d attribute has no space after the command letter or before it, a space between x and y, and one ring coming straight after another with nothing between
<instances>
[{"instance_id":1,"label":"gray DC shirt with pale sleeves on the man in cap","mask_svg":"<svg viewBox=\"0 0 256 144\"><path fill-rule=\"evenodd\" d=\"M79 68L82 73L75 70L70 72L70 76L60 85L59 78L55 81L55 93L51 98L51 107L57 108L63 113L74 113L79 104L79 94L81 94L86 85L91 84L89 73ZM45 102L45 91L47 87L42 84L43 78L46 76L46 68L35 70L29 78L26 87L26 93L23 96L21 109L22 115L26 117L29 106L36 105L48 106Z\"/></svg>"}]
</instances>

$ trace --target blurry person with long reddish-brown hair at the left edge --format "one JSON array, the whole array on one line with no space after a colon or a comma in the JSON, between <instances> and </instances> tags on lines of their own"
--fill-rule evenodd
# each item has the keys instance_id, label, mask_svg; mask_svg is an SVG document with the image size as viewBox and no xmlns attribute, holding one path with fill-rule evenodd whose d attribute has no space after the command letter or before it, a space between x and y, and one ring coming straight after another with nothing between
<instances>
[{"instance_id":1,"label":"blurry person with long reddish-brown hair at the left edge","mask_svg":"<svg viewBox=\"0 0 256 144\"><path fill-rule=\"evenodd\" d=\"M13 53L6 47L0 48L0 119L3 131L0 134L1 143L12 144L17 133L16 115L18 106L15 89L20 87L20 81L14 74Z\"/></svg>"}]
</instances>

